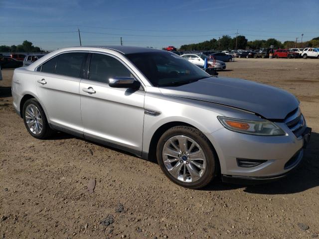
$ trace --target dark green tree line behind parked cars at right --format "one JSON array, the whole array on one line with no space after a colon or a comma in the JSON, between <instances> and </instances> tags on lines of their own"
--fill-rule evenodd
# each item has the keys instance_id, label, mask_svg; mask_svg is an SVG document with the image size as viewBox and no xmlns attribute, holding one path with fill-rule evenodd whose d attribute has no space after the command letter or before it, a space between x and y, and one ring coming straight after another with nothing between
<instances>
[{"instance_id":1,"label":"dark green tree line behind parked cars at right","mask_svg":"<svg viewBox=\"0 0 319 239\"><path fill-rule=\"evenodd\" d=\"M237 37L237 49L260 49L268 48L271 45L275 49L278 48L304 48L304 47L319 47L319 37L313 38L310 41L295 42L295 41L281 41L275 38L269 38L267 40L254 40L248 41L243 35ZM192 50L233 50L236 48L236 37L231 38L229 35L223 35L220 39L211 39L199 43L181 45L180 50L192 51Z\"/></svg>"}]
</instances>

